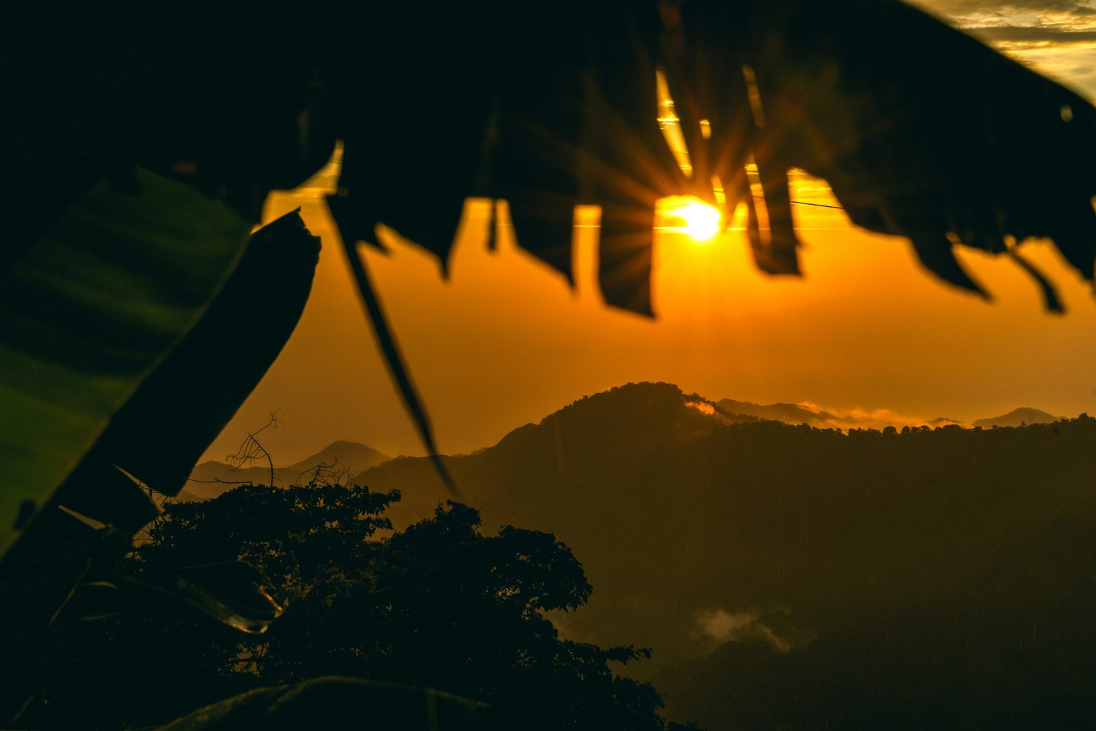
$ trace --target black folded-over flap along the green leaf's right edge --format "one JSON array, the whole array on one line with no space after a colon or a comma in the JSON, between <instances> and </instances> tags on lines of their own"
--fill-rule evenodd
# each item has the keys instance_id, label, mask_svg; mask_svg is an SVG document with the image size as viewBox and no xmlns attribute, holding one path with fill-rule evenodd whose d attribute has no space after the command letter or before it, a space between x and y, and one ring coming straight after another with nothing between
<instances>
[{"instance_id":1,"label":"black folded-over flap along the green leaf's right edge","mask_svg":"<svg viewBox=\"0 0 1096 731\"><path fill-rule=\"evenodd\" d=\"M112 465L158 492L176 494L289 339L311 292L319 251L319 238L296 210L255 231L201 321L114 415L58 500L111 522L94 505L76 501Z\"/></svg>"}]
</instances>

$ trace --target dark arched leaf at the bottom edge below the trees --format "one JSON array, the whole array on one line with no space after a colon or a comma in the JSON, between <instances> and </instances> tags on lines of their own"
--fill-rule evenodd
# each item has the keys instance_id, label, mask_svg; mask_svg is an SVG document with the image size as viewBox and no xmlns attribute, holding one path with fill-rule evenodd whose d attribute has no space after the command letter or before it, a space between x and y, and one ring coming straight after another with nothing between
<instances>
[{"instance_id":1,"label":"dark arched leaf at the bottom edge below the trees","mask_svg":"<svg viewBox=\"0 0 1096 731\"><path fill-rule=\"evenodd\" d=\"M433 688L331 676L256 688L199 708L161 731L246 728L463 731L484 728L484 709L481 703Z\"/></svg>"}]
</instances>

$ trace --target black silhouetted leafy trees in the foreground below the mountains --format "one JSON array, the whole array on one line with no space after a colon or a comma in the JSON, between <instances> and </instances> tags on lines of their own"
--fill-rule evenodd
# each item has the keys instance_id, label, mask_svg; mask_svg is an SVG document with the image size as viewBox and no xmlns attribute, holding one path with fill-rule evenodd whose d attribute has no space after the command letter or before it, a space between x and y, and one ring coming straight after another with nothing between
<instances>
[{"instance_id":1,"label":"black silhouetted leafy trees in the foreground below the mountains","mask_svg":"<svg viewBox=\"0 0 1096 731\"><path fill-rule=\"evenodd\" d=\"M380 537L398 499L357 487L241 487L171 504L126 571L241 558L266 573L285 615L264 635L167 606L83 623L22 722L164 723L261 686L343 675L487 701L504 728L666 728L654 688L608 664L646 651L561 640L543 616L575 609L592 591L567 546L511 527L486 536L479 513L452 502Z\"/></svg>"}]
</instances>

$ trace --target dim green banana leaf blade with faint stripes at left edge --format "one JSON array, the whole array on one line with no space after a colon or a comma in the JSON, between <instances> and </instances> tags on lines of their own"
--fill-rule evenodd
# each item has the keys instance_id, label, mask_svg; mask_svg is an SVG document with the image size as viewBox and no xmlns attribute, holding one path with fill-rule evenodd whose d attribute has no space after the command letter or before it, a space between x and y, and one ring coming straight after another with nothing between
<instances>
[{"instance_id":1,"label":"dim green banana leaf blade with faint stripes at left edge","mask_svg":"<svg viewBox=\"0 0 1096 731\"><path fill-rule=\"evenodd\" d=\"M99 183L0 278L0 551L197 322L249 225L138 170Z\"/></svg>"}]
</instances>

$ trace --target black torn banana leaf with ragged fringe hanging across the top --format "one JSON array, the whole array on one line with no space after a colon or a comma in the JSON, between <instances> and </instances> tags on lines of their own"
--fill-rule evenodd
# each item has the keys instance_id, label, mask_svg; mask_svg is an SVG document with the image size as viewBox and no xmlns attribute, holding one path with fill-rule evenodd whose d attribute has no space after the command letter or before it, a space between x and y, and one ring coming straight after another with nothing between
<instances>
[{"instance_id":1,"label":"black torn banana leaf with ragged fringe hanging across the top","mask_svg":"<svg viewBox=\"0 0 1096 731\"><path fill-rule=\"evenodd\" d=\"M27 171L0 196L10 251L89 179L125 184L135 161L253 215L338 136L344 176L331 205L352 259L384 222L435 252L444 272L463 201L489 196L509 202L523 247L570 275L572 208L596 204L605 299L644 315L654 202L713 199L711 174L728 207L745 202L758 266L799 272L792 165L829 180L857 225L910 238L957 286L980 292L954 247L1005 253L1060 309L1016 251L1031 236L1053 238L1093 276L1096 111L899 0L5 11L4 92L22 144L5 146L4 162ZM20 60L31 57L43 61ZM657 66L671 79L692 178L654 119ZM50 185L56 196L43 194ZM367 273L358 283L433 448Z\"/></svg>"}]
</instances>

